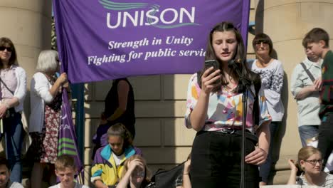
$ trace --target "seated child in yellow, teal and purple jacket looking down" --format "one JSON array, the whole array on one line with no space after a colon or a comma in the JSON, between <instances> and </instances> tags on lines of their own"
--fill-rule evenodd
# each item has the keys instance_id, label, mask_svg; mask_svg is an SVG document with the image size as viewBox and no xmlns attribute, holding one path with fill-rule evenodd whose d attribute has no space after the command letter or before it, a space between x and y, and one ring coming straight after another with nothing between
<instances>
[{"instance_id":1,"label":"seated child in yellow, teal and purple jacket looking down","mask_svg":"<svg viewBox=\"0 0 333 188\"><path fill-rule=\"evenodd\" d=\"M132 146L132 137L125 125L116 123L107 130L108 145L96 151L91 182L97 188L106 188L119 182L125 160L142 152Z\"/></svg>"}]
</instances>

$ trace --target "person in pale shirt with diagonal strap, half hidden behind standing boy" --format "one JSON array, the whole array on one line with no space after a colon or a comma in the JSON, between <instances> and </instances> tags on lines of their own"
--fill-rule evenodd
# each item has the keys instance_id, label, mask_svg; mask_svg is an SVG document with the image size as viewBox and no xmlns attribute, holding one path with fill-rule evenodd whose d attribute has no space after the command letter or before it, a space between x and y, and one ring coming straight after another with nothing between
<instances>
[{"instance_id":1,"label":"person in pale shirt with diagonal strap, half hidden behind standing boy","mask_svg":"<svg viewBox=\"0 0 333 188\"><path fill-rule=\"evenodd\" d=\"M303 39L306 57L295 66L290 81L290 91L297 102L298 132L302 147L307 146L307 140L318 136L319 119L319 78L322 76L322 59L307 48Z\"/></svg>"}]
</instances>

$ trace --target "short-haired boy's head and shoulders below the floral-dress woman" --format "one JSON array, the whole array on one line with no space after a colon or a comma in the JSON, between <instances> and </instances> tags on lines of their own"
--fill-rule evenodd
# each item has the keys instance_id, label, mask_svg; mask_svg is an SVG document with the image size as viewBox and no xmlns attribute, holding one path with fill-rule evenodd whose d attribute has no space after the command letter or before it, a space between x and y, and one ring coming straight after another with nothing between
<instances>
[{"instance_id":1,"label":"short-haired boy's head and shoulders below the floral-dress woman","mask_svg":"<svg viewBox=\"0 0 333 188\"><path fill-rule=\"evenodd\" d=\"M55 167L56 176L60 183L49 188L89 188L74 181L78 168L75 166L74 158L70 155L60 155L56 160Z\"/></svg>"}]
</instances>

